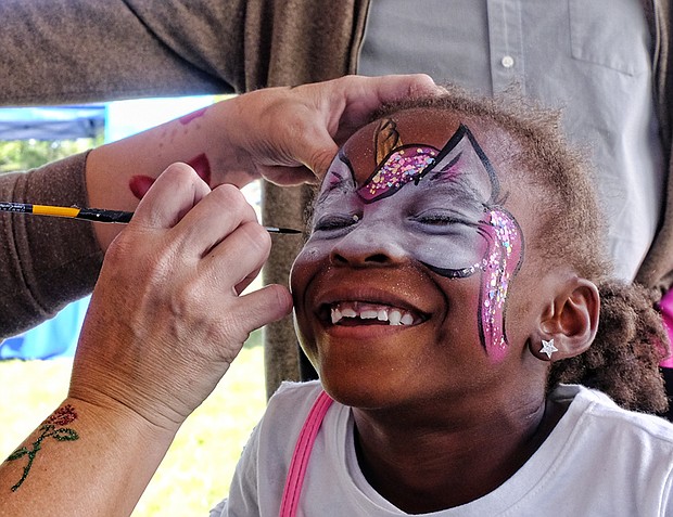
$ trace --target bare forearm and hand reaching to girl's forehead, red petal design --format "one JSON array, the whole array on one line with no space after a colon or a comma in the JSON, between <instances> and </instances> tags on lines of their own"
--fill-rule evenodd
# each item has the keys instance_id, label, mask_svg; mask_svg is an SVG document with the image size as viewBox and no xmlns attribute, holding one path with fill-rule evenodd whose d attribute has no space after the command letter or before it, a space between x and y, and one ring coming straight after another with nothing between
<instances>
[{"instance_id":1,"label":"bare forearm and hand reaching to girl's forehead, red petal design","mask_svg":"<svg viewBox=\"0 0 673 517\"><path fill-rule=\"evenodd\" d=\"M89 206L134 210L168 165L192 166L211 186L264 178L315 182L343 143L386 102L441 89L424 75L342 77L297 88L268 88L98 147L87 159ZM118 228L99 224L106 249Z\"/></svg>"}]
</instances>

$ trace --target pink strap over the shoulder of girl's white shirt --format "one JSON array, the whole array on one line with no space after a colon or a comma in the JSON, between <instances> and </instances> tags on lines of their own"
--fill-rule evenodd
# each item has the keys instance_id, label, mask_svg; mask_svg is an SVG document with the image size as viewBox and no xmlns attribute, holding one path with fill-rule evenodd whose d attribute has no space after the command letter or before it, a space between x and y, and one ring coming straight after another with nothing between
<instances>
[{"instance_id":1,"label":"pink strap over the shoulder of girl's white shirt","mask_svg":"<svg viewBox=\"0 0 673 517\"><path fill-rule=\"evenodd\" d=\"M318 436L318 431L320 430L325 414L332 402L333 400L329 395L325 391L320 391L320 395L314 402L306 417L306 422L304 422L302 431L296 440L296 445L294 447L288 478L285 479L285 488L280 503L280 517L294 517L296 515L310 451Z\"/></svg>"}]
</instances>

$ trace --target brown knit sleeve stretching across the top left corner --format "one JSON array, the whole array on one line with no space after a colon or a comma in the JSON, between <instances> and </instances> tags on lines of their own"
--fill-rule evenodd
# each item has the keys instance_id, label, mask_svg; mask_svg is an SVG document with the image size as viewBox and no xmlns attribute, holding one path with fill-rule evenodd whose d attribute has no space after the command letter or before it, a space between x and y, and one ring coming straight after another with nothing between
<instances>
[{"instance_id":1,"label":"brown knit sleeve stretching across the top left corner","mask_svg":"<svg viewBox=\"0 0 673 517\"><path fill-rule=\"evenodd\" d=\"M0 104L242 88L244 0L3 0Z\"/></svg>"}]
</instances>

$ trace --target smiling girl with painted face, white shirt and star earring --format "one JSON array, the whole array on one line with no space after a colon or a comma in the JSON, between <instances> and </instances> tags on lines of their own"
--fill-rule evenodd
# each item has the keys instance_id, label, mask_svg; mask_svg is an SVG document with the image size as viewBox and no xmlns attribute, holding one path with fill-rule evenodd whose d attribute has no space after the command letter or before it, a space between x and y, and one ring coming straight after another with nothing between
<instances>
[{"instance_id":1,"label":"smiling girl with painted face, white shirt and star earring","mask_svg":"<svg viewBox=\"0 0 673 517\"><path fill-rule=\"evenodd\" d=\"M673 512L673 428L618 406L665 408L668 340L555 125L452 92L346 142L292 271L320 382L271 399L214 515Z\"/></svg>"}]
</instances>

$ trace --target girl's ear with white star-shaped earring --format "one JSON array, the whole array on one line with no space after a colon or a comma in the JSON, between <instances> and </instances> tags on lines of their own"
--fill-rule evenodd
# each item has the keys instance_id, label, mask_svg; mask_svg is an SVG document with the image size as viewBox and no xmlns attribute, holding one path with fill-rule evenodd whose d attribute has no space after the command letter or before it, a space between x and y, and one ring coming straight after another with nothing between
<instances>
[{"instance_id":1,"label":"girl's ear with white star-shaped earring","mask_svg":"<svg viewBox=\"0 0 673 517\"><path fill-rule=\"evenodd\" d=\"M586 351L596 337L600 296L593 282L573 279L547 307L531 336L530 349L543 361L557 361Z\"/></svg>"}]
</instances>

